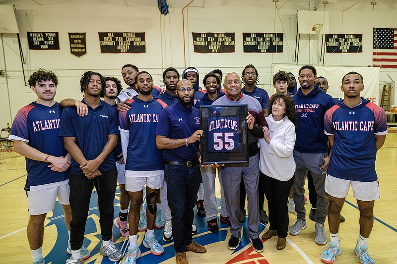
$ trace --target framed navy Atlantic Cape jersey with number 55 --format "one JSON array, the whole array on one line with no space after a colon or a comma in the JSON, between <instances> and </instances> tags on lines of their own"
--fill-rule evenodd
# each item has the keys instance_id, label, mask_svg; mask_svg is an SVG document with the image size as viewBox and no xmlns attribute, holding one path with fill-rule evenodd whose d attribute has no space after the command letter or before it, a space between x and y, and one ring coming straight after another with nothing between
<instances>
[{"instance_id":1,"label":"framed navy Atlantic Cape jersey with number 55","mask_svg":"<svg viewBox=\"0 0 397 264\"><path fill-rule=\"evenodd\" d=\"M200 106L201 163L248 163L247 105Z\"/></svg>"}]
</instances>

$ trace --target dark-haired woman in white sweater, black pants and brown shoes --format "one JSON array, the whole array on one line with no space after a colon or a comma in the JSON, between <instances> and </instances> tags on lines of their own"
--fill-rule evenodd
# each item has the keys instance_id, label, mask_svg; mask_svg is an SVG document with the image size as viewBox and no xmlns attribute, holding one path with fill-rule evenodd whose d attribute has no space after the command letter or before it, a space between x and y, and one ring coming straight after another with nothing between
<instances>
[{"instance_id":1,"label":"dark-haired woman in white sweater, black pants and brown shoes","mask_svg":"<svg viewBox=\"0 0 397 264\"><path fill-rule=\"evenodd\" d=\"M278 236L277 249L285 248L288 233L287 201L289 189L294 182L295 125L297 116L294 101L287 95L275 94L269 102L267 127L255 126L252 132L261 144L259 167L265 174L263 188L269 211L269 230L263 239Z\"/></svg>"}]
</instances>

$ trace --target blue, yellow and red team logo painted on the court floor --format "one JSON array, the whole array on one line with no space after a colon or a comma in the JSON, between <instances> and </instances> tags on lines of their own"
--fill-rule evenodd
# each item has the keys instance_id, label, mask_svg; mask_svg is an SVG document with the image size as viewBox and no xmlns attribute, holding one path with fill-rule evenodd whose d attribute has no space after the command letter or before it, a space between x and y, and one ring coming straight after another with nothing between
<instances>
[{"instance_id":1,"label":"blue, yellow and red team logo painted on the court floor","mask_svg":"<svg viewBox=\"0 0 397 264\"><path fill-rule=\"evenodd\" d=\"M116 198L114 200L115 204L115 217L117 217L120 211L119 204L120 191L116 190ZM219 202L219 201L218 201ZM91 202L90 202L90 210L88 212L87 223L85 227L84 241L83 246L85 246L91 253L90 258L84 261L85 264L113 264L107 257L104 257L99 254L100 246L102 243L101 239L101 229L99 223L99 211L97 208L97 194L92 194ZM60 204L56 204L56 207L53 211L53 216L48 217L50 221L46 228L55 225L57 229L57 237L54 238L54 246L51 249L50 253L45 256L46 263L58 264L65 263L70 255L66 253L67 248L67 240L68 234L65 225L64 211L62 210L62 206ZM227 242L230 238L230 233L228 234L229 226L218 221L219 232L212 233L207 229L207 222L205 217L195 217L194 221L197 226L198 234L194 235L193 238L195 242L200 245L205 246L207 249L211 247L211 244L221 243L225 249L227 249ZM243 223L243 232L240 245L234 251L230 251L230 255L233 258L225 258L226 264L268 264L265 260L265 257L261 254L258 254L254 251L254 249L249 246L247 247L251 241L248 236L248 227L246 225L247 221ZM260 225L260 231L262 232L265 229L264 225ZM137 263L162 263L167 260L175 259L175 250L174 250L174 240L170 242L164 242L162 239L163 228L157 229L155 228L154 234L158 242L164 247L164 253L160 256L155 256L150 253L150 249L145 248L142 244L144 239L144 232L138 232L138 245L141 251L141 255L137 260ZM113 230L113 238L115 246L123 253L123 256L128 251L129 240L126 237L122 237L120 234L120 230L117 227L114 227ZM230 259L230 260L229 260ZM229 260L229 261L227 261ZM120 260L118 263L123 263L124 259Z\"/></svg>"}]
</instances>

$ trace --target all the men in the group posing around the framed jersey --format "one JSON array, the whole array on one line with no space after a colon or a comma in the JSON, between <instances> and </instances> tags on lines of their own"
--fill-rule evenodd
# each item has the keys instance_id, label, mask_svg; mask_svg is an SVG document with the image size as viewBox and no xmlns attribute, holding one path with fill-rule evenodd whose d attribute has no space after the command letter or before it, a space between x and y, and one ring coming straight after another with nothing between
<instances>
[{"instance_id":1,"label":"all the men in the group posing around the framed jersey","mask_svg":"<svg viewBox=\"0 0 397 264\"><path fill-rule=\"evenodd\" d=\"M228 73L223 88L220 70L204 76L202 89L196 68L185 69L182 80L175 68L167 68L163 72L164 92L153 86L150 73L139 71L135 65L124 65L122 76L129 86L124 91L117 78L87 71L80 79L84 99L66 99L61 104L54 99L58 85L54 72L39 69L30 76L28 83L37 101L18 111L9 138L15 151L26 157L27 237L33 264L45 263L41 248L44 220L55 208L57 197L69 234L66 251L71 257L66 264L82 264L89 258L83 239L93 188L98 194L101 255L113 262L124 258L113 243L113 222L122 236L129 237L124 263L135 263L140 255L138 231L146 230L143 246L161 255L164 249L154 236L154 227L164 226L163 240L174 239L176 262L187 263L186 251L206 252L192 239L192 233L197 233L195 206L198 214L206 217L208 230L218 231L216 174L221 186L220 221L230 225L232 233L228 248L239 245L245 218L241 200L247 195L249 236L254 250L262 252L259 222L268 218L259 184L264 175L259 169L257 138L250 134L247 142L248 166L199 163L199 140L205 133L199 129L200 106L247 105L248 127L267 127L265 116L272 106L267 105L266 91L257 86L255 66L247 65L241 78L235 72ZM360 210L360 234L354 252L361 263L375 263L367 243L374 200L380 196L375 158L386 139L385 111L361 97L363 77L357 72L343 76L340 89L344 99L336 104L326 94L327 79L318 77L313 66L301 67L298 81L299 89L294 75L284 71L273 78L276 93L292 97L298 119L292 186L297 220L288 231L298 235L307 227L304 184L310 172L317 197L310 215L315 220L315 242L327 244L324 225L328 215L330 246L322 252L321 261L333 263L341 254L340 211L351 185ZM271 136L270 132L267 140ZM114 219L117 181L121 210ZM240 189L246 191L244 198ZM141 208L143 198L146 210ZM277 244L277 249L283 248L285 243Z\"/></svg>"}]
</instances>

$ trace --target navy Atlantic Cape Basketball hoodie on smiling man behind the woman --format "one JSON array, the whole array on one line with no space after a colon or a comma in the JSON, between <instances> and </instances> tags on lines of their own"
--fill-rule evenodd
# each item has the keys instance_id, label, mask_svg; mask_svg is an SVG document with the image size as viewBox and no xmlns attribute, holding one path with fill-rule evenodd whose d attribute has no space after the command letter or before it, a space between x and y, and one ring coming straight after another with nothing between
<instances>
[{"instance_id":1,"label":"navy Atlantic Cape Basketball hoodie on smiling man behind the woman","mask_svg":"<svg viewBox=\"0 0 397 264\"><path fill-rule=\"evenodd\" d=\"M332 97L316 85L307 96L299 88L292 99L298 115L294 150L301 153L327 153L328 138L324 134L324 115L335 105Z\"/></svg>"}]
</instances>

